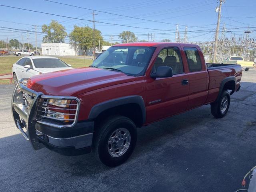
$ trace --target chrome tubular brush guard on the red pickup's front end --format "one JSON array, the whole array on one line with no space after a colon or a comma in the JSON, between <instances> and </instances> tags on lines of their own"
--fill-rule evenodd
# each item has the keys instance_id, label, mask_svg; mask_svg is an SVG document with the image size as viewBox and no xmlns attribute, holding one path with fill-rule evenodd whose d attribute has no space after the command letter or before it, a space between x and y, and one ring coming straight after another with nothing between
<instances>
[{"instance_id":1,"label":"chrome tubular brush guard on the red pickup's front end","mask_svg":"<svg viewBox=\"0 0 256 192\"><path fill-rule=\"evenodd\" d=\"M49 103L50 99L71 100L72 102L70 101L70 104L66 104L70 108L57 108L58 110L71 111L71 113L52 112L54 107ZM36 124L55 128L72 127L78 121L79 108L80 100L76 97L44 95L42 92L36 92L27 88L24 82L18 82L12 95L12 116L16 127L20 130L24 138L31 142L35 150L44 147L38 142L39 135L36 132ZM60 119L48 115L54 113L64 114L74 118Z\"/></svg>"}]
</instances>

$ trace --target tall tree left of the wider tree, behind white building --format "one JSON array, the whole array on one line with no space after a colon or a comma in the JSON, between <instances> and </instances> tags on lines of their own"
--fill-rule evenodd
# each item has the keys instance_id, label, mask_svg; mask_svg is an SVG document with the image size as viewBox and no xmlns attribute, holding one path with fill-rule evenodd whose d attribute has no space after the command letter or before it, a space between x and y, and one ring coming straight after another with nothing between
<instances>
[{"instance_id":1,"label":"tall tree left of the wider tree, behind white building","mask_svg":"<svg viewBox=\"0 0 256 192\"><path fill-rule=\"evenodd\" d=\"M49 25L42 25L42 32L47 35L43 37L43 43L64 43L68 35L66 28L58 21L52 20Z\"/></svg>"}]
</instances>

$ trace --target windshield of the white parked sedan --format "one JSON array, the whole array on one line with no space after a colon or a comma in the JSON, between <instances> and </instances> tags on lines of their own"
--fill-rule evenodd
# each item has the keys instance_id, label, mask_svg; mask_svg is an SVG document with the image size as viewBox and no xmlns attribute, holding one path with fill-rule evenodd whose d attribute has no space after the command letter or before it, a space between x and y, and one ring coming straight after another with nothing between
<instances>
[{"instance_id":1,"label":"windshield of the white parked sedan","mask_svg":"<svg viewBox=\"0 0 256 192\"><path fill-rule=\"evenodd\" d=\"M33 59L33 62L36 68L69 67L62 60L54 58Z\"/></svg>"}]
</instances>

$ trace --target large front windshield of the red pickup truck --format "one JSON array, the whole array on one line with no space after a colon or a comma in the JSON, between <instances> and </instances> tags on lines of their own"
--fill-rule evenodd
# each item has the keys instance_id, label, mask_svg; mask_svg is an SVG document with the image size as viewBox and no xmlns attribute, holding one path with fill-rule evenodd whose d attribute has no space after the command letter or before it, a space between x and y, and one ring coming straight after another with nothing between
<instances>
[{"instance_id":1,"label":"large front windshield of the red pickup truck","mask_svg":"<svg viewBox=\"0 0 256 192\"><path fill-rule=\"evenodd\" d=\"M104 51L93 67L115 70L127 75L142 76L150 62L154 47L114 46Z\"/></svg>"}]
</instances>

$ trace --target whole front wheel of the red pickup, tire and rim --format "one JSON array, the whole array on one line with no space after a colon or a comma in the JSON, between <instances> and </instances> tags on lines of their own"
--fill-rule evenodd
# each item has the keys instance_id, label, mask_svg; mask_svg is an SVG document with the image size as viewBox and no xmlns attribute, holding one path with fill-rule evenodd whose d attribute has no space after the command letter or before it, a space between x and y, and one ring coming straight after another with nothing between
<instances>
[{"instance_id":1,"label":"whole front wheel of the red pickup, tire and rim","mask_svg":"<svg viewBox=\"0 0 256 192\"><path fill-rule=\"evenodd\" d=\"M95 132L93 151L96 158L106 166L124 163L132 154L136 141L136 126L124 116L112 116Z\"/></svg>"}]
</instances>

